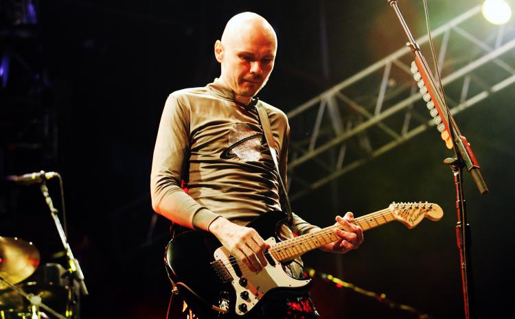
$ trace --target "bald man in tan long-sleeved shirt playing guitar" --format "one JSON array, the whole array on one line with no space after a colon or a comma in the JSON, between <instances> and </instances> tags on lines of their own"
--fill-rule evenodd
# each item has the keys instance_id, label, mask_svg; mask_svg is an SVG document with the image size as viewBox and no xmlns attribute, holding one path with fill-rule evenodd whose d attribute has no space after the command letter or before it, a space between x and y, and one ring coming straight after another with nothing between
<instances>
[{"instance_id":1,"label":"bald man in tan long-sleeved shirt playing guitar","mask_svg":"<svg viewBox=\"0 0 515 319\"><path fill-rule=\"evenodd\" d=\"M174 224L212 233L253 272L267 265L264 252L269 245L246 225L267 211L281 210L279 178L264 141L258 103L270 119L280 175L286 182L288 119L255 97L271 75L276 53L277 36L262 16L252 12L233 16L214 45L220 77L207 86L169 95L152 160L153 209ZM363 231L350 223L352 217L352 213L336 216L345 231L336 231L340 240L322 250L343 253L358 248ZM294 214L290 228L283 226L282 236L319 229ZM301 276L300 259L286 271ZM288 309L286 305L293 302L310 307ZM310 302L309 296L304 301L295 296L284 300L286 308L262 305L258 318L286 318L298 308L304 309L301 316L316 318Z\"/></svg>"}]
</instances>

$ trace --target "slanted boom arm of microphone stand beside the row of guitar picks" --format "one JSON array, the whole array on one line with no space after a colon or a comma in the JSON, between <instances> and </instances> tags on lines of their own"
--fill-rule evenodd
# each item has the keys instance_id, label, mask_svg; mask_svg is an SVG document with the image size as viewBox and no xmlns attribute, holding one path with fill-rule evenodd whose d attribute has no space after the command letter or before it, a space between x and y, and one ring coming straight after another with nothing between
<instances>
[{"instance_id":1,"label":"slanted boom arm of microphone stand beside the row of guitar picks","mask_svg":"<svg viewBox=\"0 0 515 319\"><path fill-rule=\"evenodd\" d=\"M470 143L468 143L467 139L460 134L456 121L454 120L453 115L450 114L450 110L445 103L444 94L436 85L435 79L431 74L426 59L422 55L422 51L420 51L419 45L415 43L411 32L409 32L406 21L404 21L402 14L400 14L397 0L388 0L388 3L391 5L393 10L395 10L404 32L408 36L409 43L407 43L407 45L409 45L411 51L413 51L413 54L415 55L415 64L417 64L417 69L422 76L422 80L424 80L424 84L426 84L428 93L431 95L431 99L433 99L433 102L438 109L438 113L442 118L442 123L444 123L449 129L449 134L454 141L453 147L457 160L467 168L468 172L470 172L479 193L481 193L481 195L488 193L488 187L485 180L483 180L483 176L479 170L479 163L477 163L477 159L472 152L472 147L470 147Z\"/></svg>"}]
</instances>

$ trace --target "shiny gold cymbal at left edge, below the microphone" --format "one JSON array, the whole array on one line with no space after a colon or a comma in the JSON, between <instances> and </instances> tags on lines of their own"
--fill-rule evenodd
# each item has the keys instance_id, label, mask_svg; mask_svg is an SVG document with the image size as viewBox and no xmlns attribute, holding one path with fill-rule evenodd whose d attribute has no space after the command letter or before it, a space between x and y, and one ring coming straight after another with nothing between
<instances>
[{"instance_id":1,"label":"shiny gold cymbal at left edge, below the microphone","mask_svg":"<svg viewBox=\"0 0 515 319\"><path fill-rule=\"evenodd\" d=\"M39 251L32 242L17 237L0 236L0 275L10 283L19 283L34 274L39 265ZM0 280L0 289L9 285Z\"/></svg>"}]
</instances>

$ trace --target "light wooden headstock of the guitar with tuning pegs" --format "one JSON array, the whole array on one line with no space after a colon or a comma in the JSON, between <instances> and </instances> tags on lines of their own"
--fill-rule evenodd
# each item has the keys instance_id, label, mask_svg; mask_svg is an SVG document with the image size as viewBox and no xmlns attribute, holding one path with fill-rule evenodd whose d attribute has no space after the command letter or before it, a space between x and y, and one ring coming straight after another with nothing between
<instances>
[{"instance_id":1,"label":"light wooden headstock of the guitar with tuning pegs","mask_svg":"<svg viewBox=\"0 0 515 319\"><path fill-rule=\"evenodd\" d=\"M435 222L444 216L442 207L428 202L393 202L388 208L396 220L410 229L422 222L424 217Z\"/></svg>"}]
</instances>

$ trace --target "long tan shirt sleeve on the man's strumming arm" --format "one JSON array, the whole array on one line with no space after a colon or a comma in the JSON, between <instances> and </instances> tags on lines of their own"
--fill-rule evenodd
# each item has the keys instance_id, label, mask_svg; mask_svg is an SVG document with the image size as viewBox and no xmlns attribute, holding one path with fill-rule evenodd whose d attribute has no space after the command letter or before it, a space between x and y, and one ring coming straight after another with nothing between
<instances>
[{"instance_id":1,"label":"long tan shirt sleeve on the man's strumming arm","mask_svg":"<svg viewBox=\"0 0 515 319\"><path fill-rule=\"evenodd\" d=\"M181 189L189 150L190 108L172 93L165 102L152 158L152 208L176 224L207 231L218 215Z\"/></svg>"}]
</instances>

